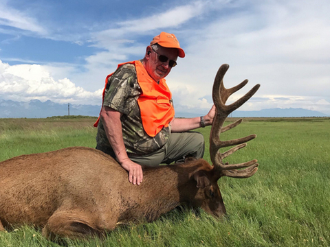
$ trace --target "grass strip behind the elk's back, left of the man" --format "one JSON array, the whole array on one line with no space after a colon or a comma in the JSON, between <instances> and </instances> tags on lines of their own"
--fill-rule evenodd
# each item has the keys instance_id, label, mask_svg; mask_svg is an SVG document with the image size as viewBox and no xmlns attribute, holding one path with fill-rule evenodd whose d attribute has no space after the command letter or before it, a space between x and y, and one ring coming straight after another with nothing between
<instances>
[{"instance_id":1,"label":"grass strip behind the elk's back, left of the man","mask_svg":"<svg viewBox=\"0 0 330 247\"><path fill-rule=\"evenodd\" d=\"M96 147L96 118L0 119L0 161L70 146Z\"/></svg>"}]
</instances>

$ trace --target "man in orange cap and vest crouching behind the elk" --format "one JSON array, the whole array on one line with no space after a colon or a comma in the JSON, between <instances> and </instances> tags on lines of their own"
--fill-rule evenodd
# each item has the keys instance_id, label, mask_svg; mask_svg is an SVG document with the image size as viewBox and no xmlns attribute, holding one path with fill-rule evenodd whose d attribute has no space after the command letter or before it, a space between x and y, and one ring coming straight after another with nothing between
<instances>
[{"instance_id":1,"label":"man in orange cap and vest crouching behind the elk","mask_svg":"<svg viewBox=\"0 0 330 247\"><path fill-rule=\"evenodd\" d=\"M116 158L129 173L129 182L140 185L141 165L203 157L204 140L188 132L212 124L214 106L203 117L174 117L172 95L164 78L184 58L174 34L162 32L146 47L142 60L119 64L107 76L98 126L97 149Z\"/></svg>"}]
</instances>

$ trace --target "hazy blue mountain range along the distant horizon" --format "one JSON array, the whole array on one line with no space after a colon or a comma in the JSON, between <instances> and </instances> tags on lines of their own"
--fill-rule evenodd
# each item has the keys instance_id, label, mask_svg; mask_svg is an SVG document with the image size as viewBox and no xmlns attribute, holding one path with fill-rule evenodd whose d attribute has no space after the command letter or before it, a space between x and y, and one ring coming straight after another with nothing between
<instances>
[{"instance_id":1,"label":"hazy blue mountain range along the distant horizon","mask_svg":"<svg viewBox=\"0 0 330 247\"><path fill-rule=\"evenodd\" d=\"M98 117L101 106L70 104L70 115L83 115ZM201 113L179 113L176 117L199 117L205 115ZM12 100L0 99L0 118L45 118L52 116L68 115L68 104L58 104L47 100L41 102L38 99L30 102L14 102ZM263 110L241 111L235 110L230 117L329 117L324 113L303 108L273 108Z\"/></svg>"}]
</instances>

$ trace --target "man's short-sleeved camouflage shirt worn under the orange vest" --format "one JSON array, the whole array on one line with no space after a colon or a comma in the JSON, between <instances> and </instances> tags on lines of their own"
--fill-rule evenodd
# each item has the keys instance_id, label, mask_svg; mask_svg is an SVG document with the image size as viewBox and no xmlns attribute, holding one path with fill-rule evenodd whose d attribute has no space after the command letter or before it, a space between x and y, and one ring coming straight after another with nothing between
<instances>
[{"instance_id":1,"label":"man's short-sleeved camouflage shirt worn under the orange vest","mask_svg":"<svg viewBox=\"0 0 330 247\"><path fill-rule=\"evenodd\" d=\"M162 148L170 135L170 126L162 128L155 137L146 134L137 104L137 98L141 93L134 64L124 64L108 79L103 100L103 106L109 106L122 113L120 121L126 152L137 155L150 154ZM102 118L98 123L96 141L99 146L111 149Z\"/></svg>"}]
</instances>

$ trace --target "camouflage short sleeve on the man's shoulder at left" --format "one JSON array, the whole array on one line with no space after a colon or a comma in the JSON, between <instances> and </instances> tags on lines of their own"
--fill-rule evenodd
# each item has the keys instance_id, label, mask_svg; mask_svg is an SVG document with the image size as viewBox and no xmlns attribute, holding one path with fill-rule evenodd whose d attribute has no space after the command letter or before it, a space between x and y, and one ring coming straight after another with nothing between
<instances>
[{"instance_id":1,"label":"camouflage short sleeve on the man's shoulder at left","mask_svg":"<svg viewBox=\"0 0 330 247\"><path fill-rule=\"evenodd\" d=\"M104 95L103 106L109 106L120 113L129 115L141 93L135 66L124 64L108 80L109 89Z\"/></svg>"}]
</instances>

